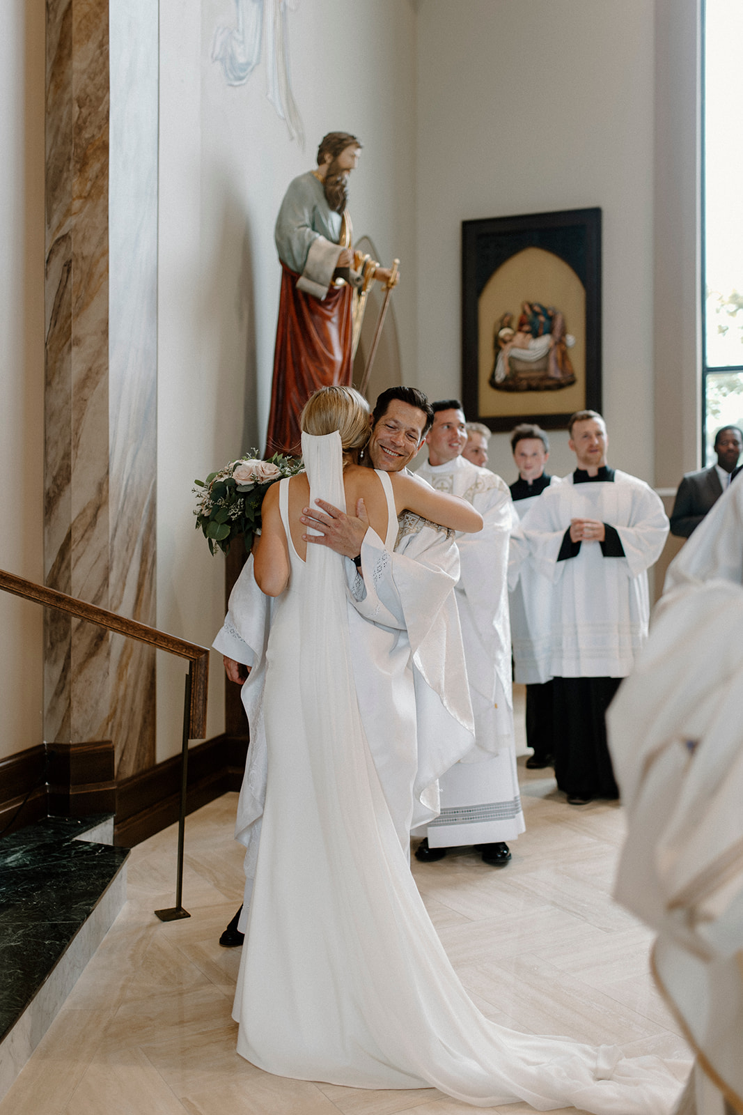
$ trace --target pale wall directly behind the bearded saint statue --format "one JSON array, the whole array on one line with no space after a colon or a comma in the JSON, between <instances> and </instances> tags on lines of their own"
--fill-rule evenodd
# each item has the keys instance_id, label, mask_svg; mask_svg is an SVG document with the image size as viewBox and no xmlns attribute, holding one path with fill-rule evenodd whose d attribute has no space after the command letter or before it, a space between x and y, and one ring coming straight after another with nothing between
<instances>
[{"instance_id":1,"label":"pale wall directly behind the bearded saint statue","mask_svg":"<svg viewBox=\"0 0 743 1115\"><path fill-rule=\"evenodd\" d=\"M273 243L289 182L325 132L360 136L356 236L397 255L403 376L414 375L414 25L408 0L303 0L289 12L304 152L265 97L265 59L239 87L211 61L233 0L160 0L158 626L208 646L224 618L224 559L194 530L190 486L263 448L280 266ZM158 759L177 750L183 671L158 663ZM208 735L223 729L213 655Z\"/></svg>"}]
</instances>

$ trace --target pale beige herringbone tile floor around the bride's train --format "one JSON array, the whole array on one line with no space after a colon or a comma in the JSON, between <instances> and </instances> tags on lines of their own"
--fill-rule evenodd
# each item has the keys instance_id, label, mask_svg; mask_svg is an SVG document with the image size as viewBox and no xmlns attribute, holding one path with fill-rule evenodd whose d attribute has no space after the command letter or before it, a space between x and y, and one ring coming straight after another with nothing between
<instances>
[{"instance_id":1,"label":"pale beige herringbone tile floor around the bride's train","mask_svg":"<svg viewBox=\"0 0 743 1115\"><path fill-rule=\"evenodd\" d=\"M418 885L470 993L490 1018L531 1032L686 1057L648 972L651 934L610 896L623 838L614 803L565 804L550 772L519 759L527 831L508 866L460 851L413 861ZM242 898L236 795L186 828L187 921L173 903L175 828L129 861L128 902L0 1115L463 1115L434 1089L364 1092L287 1080L235 1053L239 950L219 933ZM496 1108L530 1111L525 1104ZM575 1115L575 1113L574 1113Z\"/></svg>"}]
</instances>

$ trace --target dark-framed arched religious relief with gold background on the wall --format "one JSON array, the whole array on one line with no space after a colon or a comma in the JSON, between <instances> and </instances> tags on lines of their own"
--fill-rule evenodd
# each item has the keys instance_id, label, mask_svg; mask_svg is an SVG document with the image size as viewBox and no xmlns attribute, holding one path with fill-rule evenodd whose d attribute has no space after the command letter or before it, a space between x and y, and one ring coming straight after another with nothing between
<instances>
[{"instance_id":1,"label":"dark-framed arched religious relief with gold background on the wall","mask_svg":"<svg viewBox=\"0 0 743 1115\"><path fill-rule=\"evenodd\" d=\"M462 222L462 404L501 432L600 410L600 209Z\"/></svg>"}]
</instances>

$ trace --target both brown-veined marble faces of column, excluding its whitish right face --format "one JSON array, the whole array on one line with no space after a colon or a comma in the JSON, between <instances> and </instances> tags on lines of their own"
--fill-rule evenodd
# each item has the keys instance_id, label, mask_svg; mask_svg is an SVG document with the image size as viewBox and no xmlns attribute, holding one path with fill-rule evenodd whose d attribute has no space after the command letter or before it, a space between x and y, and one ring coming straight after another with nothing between
<instances>
[{"instance_id":1,"label":"both brown-veined marble faces of column, excluding its whitish right face","mask_svg":"<svg viewBox=\"0 0 743 1115\"><path fill-rule=\"evenodd\" d=\"M108 11L47 3L45 574L108 605ZM108 636L46 630L45 737L107 735Z\"/></svg>"}]
</instances>

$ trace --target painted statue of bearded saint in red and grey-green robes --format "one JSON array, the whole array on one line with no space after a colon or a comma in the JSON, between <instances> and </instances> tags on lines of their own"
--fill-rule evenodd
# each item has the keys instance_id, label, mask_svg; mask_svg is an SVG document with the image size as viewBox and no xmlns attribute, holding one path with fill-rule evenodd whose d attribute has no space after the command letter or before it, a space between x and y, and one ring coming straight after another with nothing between
<instances>
[{"instance_id":1,"label":"painted statue of bearded saint in red and grey-green robes","mask_svg":"<svg viewBox=\"0 0 743 1115\"><path fill-rule=\"evenodd\" d=\"M353 251L349 177L361 144L330 132L317 167L290 183L278 211L282 266L266 454L300 453L299 416L319 387L350 386L366 291L397 273Z\"/></svg>"}]
</instances>

